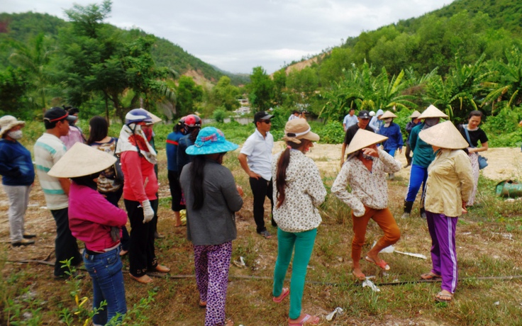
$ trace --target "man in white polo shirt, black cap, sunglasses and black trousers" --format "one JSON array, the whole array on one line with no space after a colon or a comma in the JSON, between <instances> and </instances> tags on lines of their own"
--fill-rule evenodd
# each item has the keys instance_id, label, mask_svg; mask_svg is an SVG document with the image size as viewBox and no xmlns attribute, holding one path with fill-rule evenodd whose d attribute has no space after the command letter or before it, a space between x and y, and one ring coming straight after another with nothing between
<instances>
[{"instance_id":1,"label":"man in white polo shirt, black cap, sunglasses and black trousers","mask_svg":"<svg viewBox=\"0 0 522 326\"><path fill-rule=\"evenodd\" d=\"M254 220L256 231L266 239L272 235L265 227L265 196L270 199L272 210L274 200L272 198L272 147L274 137L270 134L273 116L265 111L257 112L254 116L255 131L243 144L238 155L241 167L250 177L250 188L254 196ZM272 218L272 225L277 226Z\"/></svg>"}]
</instances>

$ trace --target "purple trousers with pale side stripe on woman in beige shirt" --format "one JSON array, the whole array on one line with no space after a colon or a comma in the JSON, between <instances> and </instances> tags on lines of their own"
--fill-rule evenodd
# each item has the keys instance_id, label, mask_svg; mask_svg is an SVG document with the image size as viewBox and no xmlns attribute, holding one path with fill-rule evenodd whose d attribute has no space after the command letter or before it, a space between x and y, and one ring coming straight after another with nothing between
<instances>
[{"instance_id":1,"label":"purple trousers with pale side stripe on woman in beige shirt","mask_svg":"<svg viewBox=\"0 0 522 326\"><path fill-rule=\"evenodd\" d=\"M455 230L458 218L426 210L426 220L431 236L431 272L442 276L441 288L455 293L458 281L457 251L455 250Z\"/></svg>"}]
</instances>

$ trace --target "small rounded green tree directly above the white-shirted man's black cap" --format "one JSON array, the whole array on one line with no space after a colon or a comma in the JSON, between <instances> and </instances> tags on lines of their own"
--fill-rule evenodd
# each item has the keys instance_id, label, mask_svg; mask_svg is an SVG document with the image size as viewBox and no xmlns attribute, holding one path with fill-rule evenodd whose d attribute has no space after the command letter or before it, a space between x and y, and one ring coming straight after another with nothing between
<instances>
[{"instance_id":1,"label":"small rounded green tree directly above the white-shirted man's black cap","mask_svg":"<svg viewBox=\"0 0 522 326\"><path fill-rule=\"evenodd\" d=\"M267 111L274 99L274 82L262 67L252 69L250 80L250 103L256 111Z\"/></svg>"}]
</instances>

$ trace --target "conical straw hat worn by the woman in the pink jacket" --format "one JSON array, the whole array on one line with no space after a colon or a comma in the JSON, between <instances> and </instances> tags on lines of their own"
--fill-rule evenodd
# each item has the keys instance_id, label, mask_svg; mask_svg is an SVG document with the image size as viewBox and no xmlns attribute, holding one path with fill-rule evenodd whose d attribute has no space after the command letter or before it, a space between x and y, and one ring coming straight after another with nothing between
<instances>
[{"instance_id":1,"label":"conical straw hat worn by the woman in the pink jacket","mask_svg":"<svg viewBox=\"0 0 522 326\"><path fill-rule=\"evenodd\" d=\"M116 157L94 147L77 142L50 169L57 178L74 178L101 172L116 163Z\"/></svg>"}]
</instances>

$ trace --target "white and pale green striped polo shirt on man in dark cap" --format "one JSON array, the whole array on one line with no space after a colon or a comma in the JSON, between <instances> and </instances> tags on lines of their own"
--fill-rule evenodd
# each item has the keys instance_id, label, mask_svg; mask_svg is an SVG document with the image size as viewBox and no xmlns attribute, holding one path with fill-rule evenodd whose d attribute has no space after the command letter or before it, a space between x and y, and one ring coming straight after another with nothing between
<instances>
[{"instance_id":1,"label":"white and pale green striped polo shirt on man in dark cap","mask_svg":"<svg viewBox=\"0 0 522 326\"><path fill-rule=\"evenodd\" d=\"M40 180L47 207L50 210L58 210L69 206L69 197L63 191L58 178L47 174L66 151L67 148L62 140L50 133L44 133L35 142L36 174L38 175L38 180Z\"/></svg>"}]
</instances>

